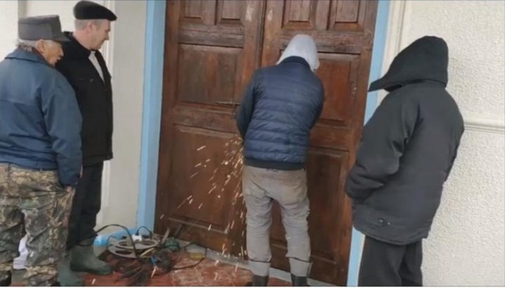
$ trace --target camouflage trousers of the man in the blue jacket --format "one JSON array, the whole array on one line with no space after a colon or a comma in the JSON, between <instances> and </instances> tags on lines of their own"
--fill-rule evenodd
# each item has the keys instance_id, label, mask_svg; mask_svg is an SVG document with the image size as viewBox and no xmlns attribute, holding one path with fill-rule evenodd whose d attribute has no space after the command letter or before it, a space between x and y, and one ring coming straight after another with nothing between
<instances>
[{"instance_id":1,"label":"camouflage trousers of the man in the blue jacket","mask_svg":"<svg viewBox=\"0 0 505 288\"><path fill-rule=\"evenodd\" d=\"M0 163L0 281L10 277L26 233L23 284L50 286L56 282L73 196L58 184L56 171Z\"/></svg>"}]
</instances>

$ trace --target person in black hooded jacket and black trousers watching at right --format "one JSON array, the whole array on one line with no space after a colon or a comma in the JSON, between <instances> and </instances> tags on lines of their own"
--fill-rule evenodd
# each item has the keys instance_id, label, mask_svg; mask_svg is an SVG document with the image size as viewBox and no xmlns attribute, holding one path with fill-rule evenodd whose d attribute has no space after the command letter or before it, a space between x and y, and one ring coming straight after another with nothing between
<instances>
[{"instance_id":1,"label":"person in black hooded jacket and black trousers watching at right","mask_svg":"<svg viewBox=\"0 0 505 288\"><path fill-rule=\"evenodd\" d=\"M360 286L422 286L422 239L440 204L464 124L447 85L447 44L424 36L370 91L389 92L363 129L346 181L366 235Z\"/></svg>"}]
</instances>

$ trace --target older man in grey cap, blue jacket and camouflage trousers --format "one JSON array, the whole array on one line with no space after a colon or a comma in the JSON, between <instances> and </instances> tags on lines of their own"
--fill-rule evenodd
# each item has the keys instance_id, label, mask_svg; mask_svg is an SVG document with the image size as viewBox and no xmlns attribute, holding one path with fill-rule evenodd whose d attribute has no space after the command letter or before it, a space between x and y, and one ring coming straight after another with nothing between
<instances>
[{"instance_id":1,"label":"older man in grey cap, blue jacket and camouflage trousers","mask_svg":"<svg viewBox=\"0 0 505 288\"><path fill-rule=\"evenodd\" d=\"M20 18L18 48L0 62L0 287L25 234L22 284L57 285L81 172L81 114L54 69L62 41L57 15Z\"/></svg>"}]
</instances>

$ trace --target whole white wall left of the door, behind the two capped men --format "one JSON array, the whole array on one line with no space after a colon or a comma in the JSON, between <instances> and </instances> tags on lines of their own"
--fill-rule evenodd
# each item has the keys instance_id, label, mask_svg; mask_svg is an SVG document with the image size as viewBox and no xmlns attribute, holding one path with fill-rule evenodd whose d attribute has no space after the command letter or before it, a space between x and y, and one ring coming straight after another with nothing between
<instances>
[{"instance_id":1,"label":"whole white wall left of the door, behind the two capped men","mask_svg":"<svg viewBox=\"0 0 505 288\"><path fill-rule=\"evenodd\" d=\"M140 180L140 143L144 85L146 1L95 1L109 7L118 20L112 22L110 41L102 53L112 74L114 102L114 159L105 164L102 211L97 228L106 224L136 226ZM74 30L75 0L0 0L0 57L15 47L18 17L60 15L62 29ZM105 231L111 232L112 229Z\"/></svg>"}]
</instances>

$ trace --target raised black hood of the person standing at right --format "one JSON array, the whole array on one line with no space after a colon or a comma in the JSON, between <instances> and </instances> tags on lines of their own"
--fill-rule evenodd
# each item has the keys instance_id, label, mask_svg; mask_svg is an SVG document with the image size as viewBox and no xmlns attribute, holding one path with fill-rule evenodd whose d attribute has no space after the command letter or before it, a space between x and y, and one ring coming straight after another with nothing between
<instances>
[{"instance_id":1,"label":"raised black hood of the person standing at right","mask_svg":"<svg viewBox=\"0 0 505 288\"><path fill-rule=\"evenodd\" d=\"M448 62L447 43L436 36L424 36L396 55L386 75L372 82L368 91L392 91L426 80L447 85Z\"/></svg>"}]
</instances>

